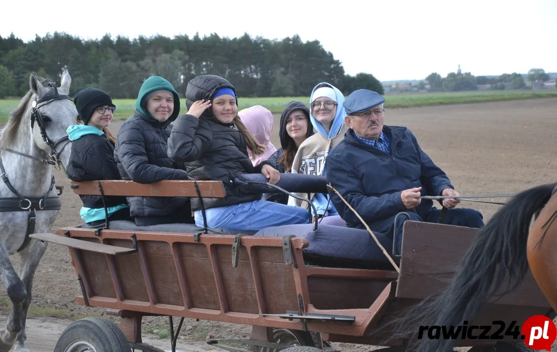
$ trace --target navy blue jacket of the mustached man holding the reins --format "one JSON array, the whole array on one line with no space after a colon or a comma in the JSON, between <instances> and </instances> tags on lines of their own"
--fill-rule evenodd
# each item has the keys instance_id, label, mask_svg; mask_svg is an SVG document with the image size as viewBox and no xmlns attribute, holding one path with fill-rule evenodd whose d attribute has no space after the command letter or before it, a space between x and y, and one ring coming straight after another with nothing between
<instances>
[{"instance_id":1,"label":"navy blue jacket of the mustached man holding the reins","mask_svg":"<svg viewBox=\"0 0 557 352\"><path fill-rule=\"evenodd\" d=\"M422 196L431 196L441 195L446 188L454 189L446 173L420 148L410 130L383 126L383 131L390 133L391 155L361 143L350 128L344 140L329 153L325 165L327 182L368 225L408 211L400 199L404 190L422 187ZM349 227L363 227L354 212L332 191L331 200ZM414 210L424 218L432 207L432 200L422 199Z\"/></svg>"}]
</instances>

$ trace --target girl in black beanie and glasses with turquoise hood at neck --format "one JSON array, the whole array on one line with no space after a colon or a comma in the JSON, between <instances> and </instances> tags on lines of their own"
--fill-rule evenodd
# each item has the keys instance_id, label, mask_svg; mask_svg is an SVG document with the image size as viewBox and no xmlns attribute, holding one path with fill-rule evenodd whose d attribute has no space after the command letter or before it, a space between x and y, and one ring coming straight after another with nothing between
<instances>
[{"instance_id":1,"label":"girl in black beanie and glasses with turquoise hood at neck","mask_svg":"<svg viewBox=\"0 0 557 352\"><path fill-rule=\"evenodd\" d=\"M116 106L104 91L86 88L74 97L78 125L67 128L71 143L66 172L70 180L120 180L114 161L115 138L108 130ZM79 215L90 226L104 224L105 209L101 196L80 195L83 207ZM109 220L128 220L130 211L125 197L106 196Z\"/></svg>"}]
</instances>

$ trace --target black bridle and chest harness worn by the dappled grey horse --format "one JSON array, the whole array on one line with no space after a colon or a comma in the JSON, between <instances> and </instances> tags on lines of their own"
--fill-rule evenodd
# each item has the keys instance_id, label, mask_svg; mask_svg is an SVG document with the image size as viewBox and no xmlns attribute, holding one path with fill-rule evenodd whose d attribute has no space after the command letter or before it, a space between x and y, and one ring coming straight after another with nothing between
<instances>
[{"instance_id":1,"label":"black bridle and chest harness worn by the dappled grey horse","mask_svg":"<svg viewBox=\"0 0 557 352\"><path fill-rule=\"evenodd\" d=\"M41 131L42 140L45 141L46 145L48 146L48 149L50 150L50 152L48 152L48 156L50 157L50 159L43 159L40 157L28 155L9 148L2 148L2 149L7 152L11 152L17 155L31 158L33 160L41 161L42 163L54 166L56 170L61 170L62 165L61 165L60 155L62 154L64 148L70 143L70 138L69 136L66 135L60 138L59 140L57 140L56 142L50 140L50 138L48 138L46 134L45 121L43 120L43 117L39 109L45 105L50 104L53 101L65 100L65 99L70 101L72 100L70 99L69 96L61 95L58 93L58 89L56 88L55 82L48 83L48 85L50 85L53 88L53 91L49 92L47 95L40 98L38 101L33 101L32 103L33 110L31 111L31 130L33 130L33 127L35 126L35 122L37 122L37 125L39 126L39 129ZM60 149L60 152L57 152L56 147L61 143L65 143L65 144ZM0 171L2 172L0 176L2 177L2 181L4 181L4 184L6 184L8 189L15 196L17 196L17 198L0 198L0 212L29 211L25 240L23 240L23 244L16 251L19 252L25 249L25 247L31 241L31 237L29 236L35 233L35 219L36 219L35 211L36 210L60 210L62 209L62 203L60 201L59 195L48 196L50 192L52 192L52 189L55 187L54 175L51 175L52 180L51 180L50 187L48 188L48 191L43 196L25 197L21 195L16 189L14 189L12 184L9 182L8 177L6 176L6 171L4 170L4 165L2 163L1 157L0 157ZM64 168L64 172L66 172L65 168Z\"/></svg>"}]
</instances>

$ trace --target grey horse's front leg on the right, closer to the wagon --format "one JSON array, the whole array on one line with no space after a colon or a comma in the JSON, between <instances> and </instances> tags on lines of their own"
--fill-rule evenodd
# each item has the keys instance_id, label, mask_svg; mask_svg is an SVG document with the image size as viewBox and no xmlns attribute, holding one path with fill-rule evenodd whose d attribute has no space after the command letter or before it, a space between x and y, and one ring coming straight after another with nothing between
<instances>
[{"instance_id":1,"label":"grey horse's front leg on the right, closer to the wagon","mask_svg":"<svg viewBox=\"0 0 557 352\"><path fill-rule=\"evenodd\" d=\"M32 243L32 242L31 242ZM25 322L27 320L27 309L31 304L31 289L33 287L33 277L37 270L37 266L46 251L47 242L36 241L35 245L27 247L21 252L21 272L20 277L27 289L27 296L23 300L21 306L21 331L17 335L16 348L14 352L29 352L25 345L27 334L25 333Z\"/></svg>"}]
</instances>

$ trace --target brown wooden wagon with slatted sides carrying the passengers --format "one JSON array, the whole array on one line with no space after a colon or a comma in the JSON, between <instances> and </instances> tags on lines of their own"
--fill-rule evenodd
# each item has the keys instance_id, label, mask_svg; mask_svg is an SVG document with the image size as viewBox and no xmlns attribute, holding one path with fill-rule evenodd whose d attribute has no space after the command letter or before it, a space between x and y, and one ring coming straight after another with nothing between
<instances>
[{"instance_id":1,"label":"brown wooden wagon with slatted sides carrying the passengers","mask_svg":"<svg viewBox=\"0 0 557 352\"><path fill-rule=\"evenodd\" d=\"M88 181L71 187L80 195L225 196L221 181ZM82 292L77 303L120 317L119 329L100 319L76 321L62 333L56 351L81 345L97 351L161 351L141 340L141 319L152 315L170 317L173 351L183 318L251 325L250 339L207 341L230 351L338 351L335 342L382 345L392 334L382 326L446 287L477 233L406 221L402 250L394 255L397 272L384 257L351 263L308 255L307 233L319 232L319 225L303 233L257 236L193 225L185 232L145 231L116 223L32 235L69 247ZM491 301L469 325L494 320L521 325L535 314L555 316L529 272L515 291ZM173 316L182 318L176 329ZM457 345L473 346L475 352L495 344L497 351L527 350L510 336L501 337L460 339ZM242 344L247 347L238 347ZM403 351L404 345L394 340L384 350Z\"/></svg>"}]
</instances>

